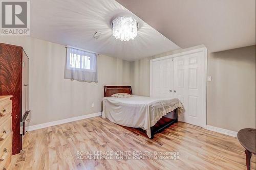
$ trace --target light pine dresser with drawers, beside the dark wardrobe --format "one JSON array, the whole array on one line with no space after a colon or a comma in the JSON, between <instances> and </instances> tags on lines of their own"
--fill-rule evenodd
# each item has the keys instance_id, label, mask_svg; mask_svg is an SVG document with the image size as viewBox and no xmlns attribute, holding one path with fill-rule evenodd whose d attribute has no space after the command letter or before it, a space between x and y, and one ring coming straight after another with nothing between
<instances>
[{"instance_id":1,"label":"light pine dresser with drawers, beside the dark wardrobe","mask_svg":"<svg viewBox=\"0 0 256 170\"><path fill-rule=\"evenodd\" d=\"M8 169L12 156L12 95L0 95L0 170Z\"/></svg>"}]
</instances>

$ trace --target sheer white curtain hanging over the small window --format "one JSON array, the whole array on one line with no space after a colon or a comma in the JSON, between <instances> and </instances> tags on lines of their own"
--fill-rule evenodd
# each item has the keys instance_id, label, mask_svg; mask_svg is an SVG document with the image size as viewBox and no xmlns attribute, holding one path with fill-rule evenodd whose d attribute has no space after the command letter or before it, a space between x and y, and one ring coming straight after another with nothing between
<instances>
[{"instance_id":1,"label":"sheer white curtain hanging over the small window","mask_svg":"<svg viewBox=\"0 0 256 170\"><path fill-rule=\"evenodd\" d=\"M97 55L67 47L65 79L98 82Z\"/></svg>"}]
</instances>

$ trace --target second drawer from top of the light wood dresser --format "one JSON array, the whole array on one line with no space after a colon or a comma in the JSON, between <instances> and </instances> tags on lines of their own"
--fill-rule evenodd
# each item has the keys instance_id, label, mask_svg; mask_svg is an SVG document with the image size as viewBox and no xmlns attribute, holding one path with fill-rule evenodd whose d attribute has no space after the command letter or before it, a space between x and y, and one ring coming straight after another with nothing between
<instances>
[{"instance_id":1,"label":"second drawer from top of the light wood dresser","mask_svg":"<svg viewBox=\"0 0 256 170\"><path fill-rule=\"evenodd\" d=\"M10 116L3 125L0 125L0 146L5 142L8 135L12 132L12 117ZM0 169L1 170L1 169Z\"/></svg>"}]
</instances>

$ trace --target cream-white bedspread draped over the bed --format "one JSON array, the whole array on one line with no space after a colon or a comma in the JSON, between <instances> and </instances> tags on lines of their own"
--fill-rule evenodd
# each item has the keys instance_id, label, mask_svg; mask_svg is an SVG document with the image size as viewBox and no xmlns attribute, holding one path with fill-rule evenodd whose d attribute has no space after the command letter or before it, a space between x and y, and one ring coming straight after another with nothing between
<instances>
[{"instance_id":1,"label":"cream-white bedspread draped over the bed","mask_svg":"<svg viewBox=\"0 0 256 170\"><path fill-rule=\"evenodd\" d=\"M131 98L103 98L102 118L108 118L119 125L142 128L151 138L150 127L167 113L183 109L179 99L152 98L133 95Z\"/></svg>"}]
</instances>

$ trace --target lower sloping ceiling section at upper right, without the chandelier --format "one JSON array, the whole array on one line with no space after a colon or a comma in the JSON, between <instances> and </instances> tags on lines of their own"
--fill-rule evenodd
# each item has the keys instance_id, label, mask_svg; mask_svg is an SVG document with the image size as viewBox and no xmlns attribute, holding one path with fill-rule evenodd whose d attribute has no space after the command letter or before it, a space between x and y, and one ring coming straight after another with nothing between
<instances>
[{"instance_id":1,"label":"lower sloping ceiling section at upper right, without the chandelier","mask_svg":"<svg viewBox=\"0 0 256 170\"><path fill-rule=\"evenodd\" d=\"M116 0L182 48L255 44L255 0Z\"/></svg>"}]
</instances>

